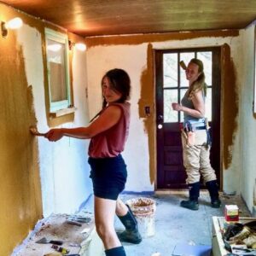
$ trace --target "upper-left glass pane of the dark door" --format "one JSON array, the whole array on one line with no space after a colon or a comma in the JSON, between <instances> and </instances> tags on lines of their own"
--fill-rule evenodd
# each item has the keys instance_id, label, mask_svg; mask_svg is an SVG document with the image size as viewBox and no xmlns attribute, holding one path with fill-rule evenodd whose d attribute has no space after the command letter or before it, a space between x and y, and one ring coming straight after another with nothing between
<instances>
[{"instance_id":1,"label":"upper-left glass pane of the dark door","mask_svg":"<svg viewBox=\"0 0 256 256\"><path fill-rule=\"evenodd\" d=\"M164 54L164 88L177 87L177 54Z\"/></svg>"}]
</instances>

